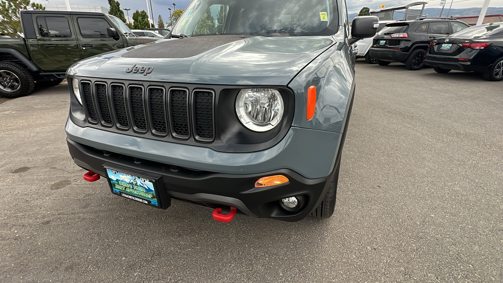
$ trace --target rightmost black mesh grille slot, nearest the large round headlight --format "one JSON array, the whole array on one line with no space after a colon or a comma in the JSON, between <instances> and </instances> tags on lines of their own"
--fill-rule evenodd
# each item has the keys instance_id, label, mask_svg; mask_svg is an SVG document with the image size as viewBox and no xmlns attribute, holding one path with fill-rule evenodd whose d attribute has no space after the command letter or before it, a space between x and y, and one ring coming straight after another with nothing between
<instances>
[{"instance_id":1,"label":"rightmost black mesh grille slot, nearest the large round headlight","mask_svg":"<svg viewBox=\"0 0 503 283\"><path fill-rule=\"evenodd\" d=\"M213 130L213 92L194 91L194 124L196 139L211 142L214 137Z\"/></svg>"}]
</instances>

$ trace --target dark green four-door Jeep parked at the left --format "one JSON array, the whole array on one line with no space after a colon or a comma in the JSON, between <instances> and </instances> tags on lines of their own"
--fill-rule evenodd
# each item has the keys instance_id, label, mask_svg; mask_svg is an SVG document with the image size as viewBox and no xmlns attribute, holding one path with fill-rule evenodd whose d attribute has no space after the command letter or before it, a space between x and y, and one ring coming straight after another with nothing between
<instances>
[{"instance_id":1,"label":"dark green four-door Jeep parked at the left","mask_svg":"<svg viewBox=\"0 0 503 283\"><path fill-rule=\"evenodd\" d=\"M73 63L155 41L138 37L117 17L92 12L21 11L23 38L0 38L0 95L30 94L53 86Z\"/></svg>"}]
</instances>

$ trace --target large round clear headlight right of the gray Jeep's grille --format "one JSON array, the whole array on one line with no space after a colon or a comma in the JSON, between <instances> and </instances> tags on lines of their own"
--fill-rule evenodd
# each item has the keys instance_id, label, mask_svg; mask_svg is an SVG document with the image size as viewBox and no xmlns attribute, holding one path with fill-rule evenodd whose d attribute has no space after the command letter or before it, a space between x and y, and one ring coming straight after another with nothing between
<instances>
[{"instance_id":1,"label":"large round clear headlight right of the gray Jeep's grille","mask_svg":"<svg viewBox=\"0 0 503 283\"><path fill-rule=\"evenodd\" d=\"M237 117L250 130L262 132L276 127L283 110L283 98L274 89L243 89L237 95Z\"/></svg>"}]
</instances>

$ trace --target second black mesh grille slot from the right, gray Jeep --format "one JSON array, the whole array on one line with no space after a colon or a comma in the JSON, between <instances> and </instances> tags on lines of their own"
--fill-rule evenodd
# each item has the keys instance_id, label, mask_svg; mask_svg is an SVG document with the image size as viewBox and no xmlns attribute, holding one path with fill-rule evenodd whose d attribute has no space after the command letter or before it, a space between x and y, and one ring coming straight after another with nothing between
<instances>
[{"instance_id":1,"label":"second black mesh grille slot from the right, gray Jeep","mask_svg":"<svg viewBox=\"0 0 503 283\"><path fill-rule=\"evenodd\" d=\"M173 136L189 138L188 92L183 89L172 89L170 92L170 112Z\"/></svg>"}]
</instances>

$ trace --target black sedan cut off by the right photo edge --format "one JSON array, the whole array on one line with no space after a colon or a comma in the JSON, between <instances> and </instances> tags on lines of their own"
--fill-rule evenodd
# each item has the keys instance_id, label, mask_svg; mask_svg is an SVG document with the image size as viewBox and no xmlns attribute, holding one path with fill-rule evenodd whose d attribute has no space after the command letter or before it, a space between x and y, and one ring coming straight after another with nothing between
<instances>
[{"instance_id":1,"label":"black sedan cut off by the right photo edge","mask_svg":"<svg viewBox=\"0 0 503 283\"><path fill-rule=\"evenodd\" d=\"M433 40L425 64L437 73L480 72L488 81L503 80L503 22L474 26Z\"/></svg>"}]
</instances>

